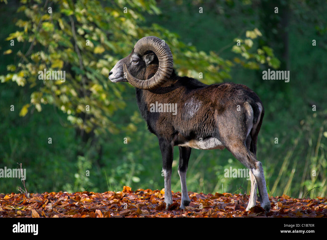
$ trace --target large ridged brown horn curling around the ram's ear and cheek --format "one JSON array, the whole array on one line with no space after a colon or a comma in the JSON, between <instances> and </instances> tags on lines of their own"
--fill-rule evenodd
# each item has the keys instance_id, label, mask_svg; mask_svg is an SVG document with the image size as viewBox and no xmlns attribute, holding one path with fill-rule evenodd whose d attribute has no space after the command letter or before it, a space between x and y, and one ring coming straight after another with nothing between
<instances>
[{"instance_id":1,"label":"large ridged brown horn curling around the ram's ear and cheek","mask_svg":"<svg viewBox=\"0 0 327 240\"><path fill-rule=\"evenodd\" d=\"M140 80L133 77L126 64L123 65L124 72L127 74L128 82L135 88L150 90L155 89L163 85L173 72L173 55L168 47L168 45L161 39L149 36L141 38L137 41L134 46L134 53L138 53L143 56L146 51L153 51L159 60L159 67L157 72L153 77L147 80Z\"/></svg>"}]
</instances>

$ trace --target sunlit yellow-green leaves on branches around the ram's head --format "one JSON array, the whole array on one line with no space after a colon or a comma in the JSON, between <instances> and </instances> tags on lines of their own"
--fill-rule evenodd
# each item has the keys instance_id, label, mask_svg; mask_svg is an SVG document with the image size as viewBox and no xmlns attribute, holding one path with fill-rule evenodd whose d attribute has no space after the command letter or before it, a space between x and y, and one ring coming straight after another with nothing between
<instances>
[{"instance_id":1,"label":"sunlit yellow-green leaves on branches around the ram's head","mask_svg":"<svg viewBox=\"0 0 327 240\"><path fill-rule=\"evenodd\" d=\"M49 6L50 3L34 5L24 1L18 12L24 12L26 20L16 22L24 30L6 38L18 42L32 41L26 54L16 49L17 56L21 57L18 67L10 64L7 66L9 72L0 76L2 83L12 80L18 86L27 84L35 89L30 104L23 106L20 116L25 116L30 107L40 112L43 104L53 104L67 114L67 120L73 126L86 133L106 133L106 130L117 133L110 117L118 108L125 107L121 97L124 87L113 84L109 87L107 76L111 66L128 55L138 39L147 35L158 36L168 43L179 74L198 78L202 72L204 82L209 84L231 78L231 61L212 51L208 55L197 52L194 46L185 45L176 34L158 24L139 26L143 20L142 11L159 12L154 1L144 4L117 1L103 7L97 1L77 1L74 4L60 0ZM124 13L125 6L127 13ZM258 29L247 31L247 35L249 32L252 39L261 35ZM246 59L256 57L258 60L259 55L248 53L252 45L242 46L239 53ZM266 51L267 55L271 56L272 49L269 51ZM242 64L248 68L258 67L256 62L242 61ZM45 78L43 72L46 71L65 71L67 81L58 77L48 79L48 73L47 79L41 80L40 74Z\"/></svg>"}]
</instances>

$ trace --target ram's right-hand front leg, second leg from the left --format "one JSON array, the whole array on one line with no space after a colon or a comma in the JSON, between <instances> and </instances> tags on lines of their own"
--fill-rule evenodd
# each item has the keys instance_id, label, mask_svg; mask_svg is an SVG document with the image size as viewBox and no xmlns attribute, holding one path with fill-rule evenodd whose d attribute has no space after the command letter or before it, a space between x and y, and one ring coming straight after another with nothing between
<instances>
[{"instance_id":1,"label":"ram's right-hand front leg, second leg from the left","mask_svg":"<svg viewBox=\"0 0 327 240\"><path fill-rule=\"evenodd\" d=\"M181 209L188 206L191 202L188 196L186 187L186 171L188 166L188 160L190 159L191 148L189 147L178 147L180 150L180 161L178 164L178 174L181 178L181 188L182 188L182 199L181 199Z\"/></svg>"}]
</instances>

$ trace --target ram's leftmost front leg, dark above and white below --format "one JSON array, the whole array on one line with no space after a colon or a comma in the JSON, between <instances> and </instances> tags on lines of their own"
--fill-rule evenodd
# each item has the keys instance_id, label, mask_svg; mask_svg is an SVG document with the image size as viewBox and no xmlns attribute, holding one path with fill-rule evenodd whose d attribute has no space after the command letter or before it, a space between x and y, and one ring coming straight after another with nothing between
<instances>
[{"instance_id":1,"label":"ram's leftmost front leg, dark above and white below","mask_svg":"<svg viewBox=\"0 0 327 240\"><path fill-rule=\"evenodd\" d=\"M171 195L171 169L173 164L173 146L171 141L160 138L159 146L163 156L163 176L164 176L164 202L166 209L173 203Z\"/></svg>"}]
</instances>

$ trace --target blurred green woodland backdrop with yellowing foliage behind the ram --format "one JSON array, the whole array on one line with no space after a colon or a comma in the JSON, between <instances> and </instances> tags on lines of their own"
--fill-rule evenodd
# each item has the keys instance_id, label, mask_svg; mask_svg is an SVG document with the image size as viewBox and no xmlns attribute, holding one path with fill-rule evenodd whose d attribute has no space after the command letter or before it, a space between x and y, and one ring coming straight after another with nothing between
<instances>
[{"instance_id":1,"label":"blurred green woodland backdrop with yellowing foliage behind the ram","mask_svg":"<svg viewBox=\"0 0 327 240\"><path fill-rule=\"evenodd\" d=\"M0 0L0 168L22 163L31 192L162 189L158 140L135 89L108 80L137 40L157 36L180 75L258 94L257 158L270 195L302 198L320 186L308 196L326 196L326 12L316 0ZM268 68L290 71L290 81L263 80ZM66 71L66 81L39 80L43 69ZM174 192L178 158L175 147ZM224 177L230 167L244 168L227 150L193 149L188 190L249 193L246 178ZM19 186L0 178L0 193Z\"/></svg>"}]
</instances>

